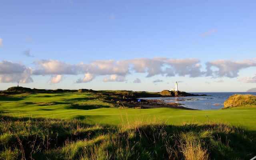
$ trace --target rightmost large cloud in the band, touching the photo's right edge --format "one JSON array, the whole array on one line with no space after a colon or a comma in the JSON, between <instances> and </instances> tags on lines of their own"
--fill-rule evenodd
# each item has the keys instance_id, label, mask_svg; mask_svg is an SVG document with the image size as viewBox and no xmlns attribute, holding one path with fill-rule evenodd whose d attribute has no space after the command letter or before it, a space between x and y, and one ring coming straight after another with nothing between
<instances>
[{"instance_id":1,"label":"rightmost large cloud in the band, touching the photo's right edge","mask_svg":"<svg viewBox=\"0 0 256 160\"><path fill-rule=\"evenodd\" d=\"M229 77L234 78L238 76L241 69L256 66L256 59L254 60L214 60L206 62L206 76Z\"/></svg>"}]
</instances>

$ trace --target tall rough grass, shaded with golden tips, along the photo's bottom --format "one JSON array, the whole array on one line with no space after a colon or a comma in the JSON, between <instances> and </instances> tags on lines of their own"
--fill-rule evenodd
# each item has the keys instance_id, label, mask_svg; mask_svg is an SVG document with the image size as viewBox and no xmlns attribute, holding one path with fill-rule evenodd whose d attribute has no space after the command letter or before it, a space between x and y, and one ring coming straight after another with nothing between
<instances>
[{"instance_id":1,"label":"tall rough grass, shaded with golden tips, along the photo's bottom","mask_svg":"<svg viewBox=\"0 0 256 160\"><path fill-rule=\"evenodd\" d=\"M118 126L80 120L0 115L0 159L250 159L256 133L229 124L168 125L159 120Z\"/></svg>"}]
</instances>

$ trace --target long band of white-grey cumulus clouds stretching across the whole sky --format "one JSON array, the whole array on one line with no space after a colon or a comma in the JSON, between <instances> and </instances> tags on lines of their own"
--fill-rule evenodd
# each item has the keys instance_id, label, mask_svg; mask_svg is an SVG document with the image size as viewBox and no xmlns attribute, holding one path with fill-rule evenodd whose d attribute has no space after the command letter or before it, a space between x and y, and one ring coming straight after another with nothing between
<instances>
[{"instance_id":1,"label":"long band of white-grey cumulus clouds stretching across the whole sky","mask_svg":"<svg viewBox=\"0 0 256 160\"><path fill-rule=\"evenodd\" d=\"M30 52L26 53L30 55ZM125 77L132 73L145 73L146 77L162 76L211 76L212 78L238 76L241 69L256 66L254 60L215 60L206 62L206 71L202 71L200 60L196 58L134 58L130 60L96 60L90 63L69 64L59 60L36 60L35 68L20 63L3 60L0 62L2 82L32 82L32 75L78 75L84 74L76 83L90 82L97 76L106 76L103 81L124 82ZM14 75L12 75L14 74ZM18 75L19 74L19 75ZM18 76L17 76L18 75ZM24 75L24 76L23 76ZM20 78L17 78L20 77ZM57 77L54 77L55 79ZM60 76L58 76L60 78ZM56 81L54 81L56 82ZM139 82L138 80L134 82Z\"/></svg>"}]
</instances>

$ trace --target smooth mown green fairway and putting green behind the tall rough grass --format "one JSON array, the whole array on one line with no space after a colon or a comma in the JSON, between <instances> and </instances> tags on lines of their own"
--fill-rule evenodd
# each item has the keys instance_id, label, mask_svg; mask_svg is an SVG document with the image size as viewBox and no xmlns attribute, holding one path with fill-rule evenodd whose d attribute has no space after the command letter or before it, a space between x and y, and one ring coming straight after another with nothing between
<instances>
[{"instance_id":1,"label":"smooth mown green fairway and putting green behind the tall rough grass","mask_svg":"<svg viewBox=\"0 0 256 160\"><path fill-rule=\"evenodd\" d=\"M107 102L92 93L65 94L16 94L0 98L0 112L17 117L47 117L80 119L87 123L120 124L124 121L161 119L167 124L182 125L186 122L228 122L234 126L256 130L256 108L242 107L224 110L179 110L172 108L133 109L113 108L117 104Z\"/></svg>"}]
</instances>

